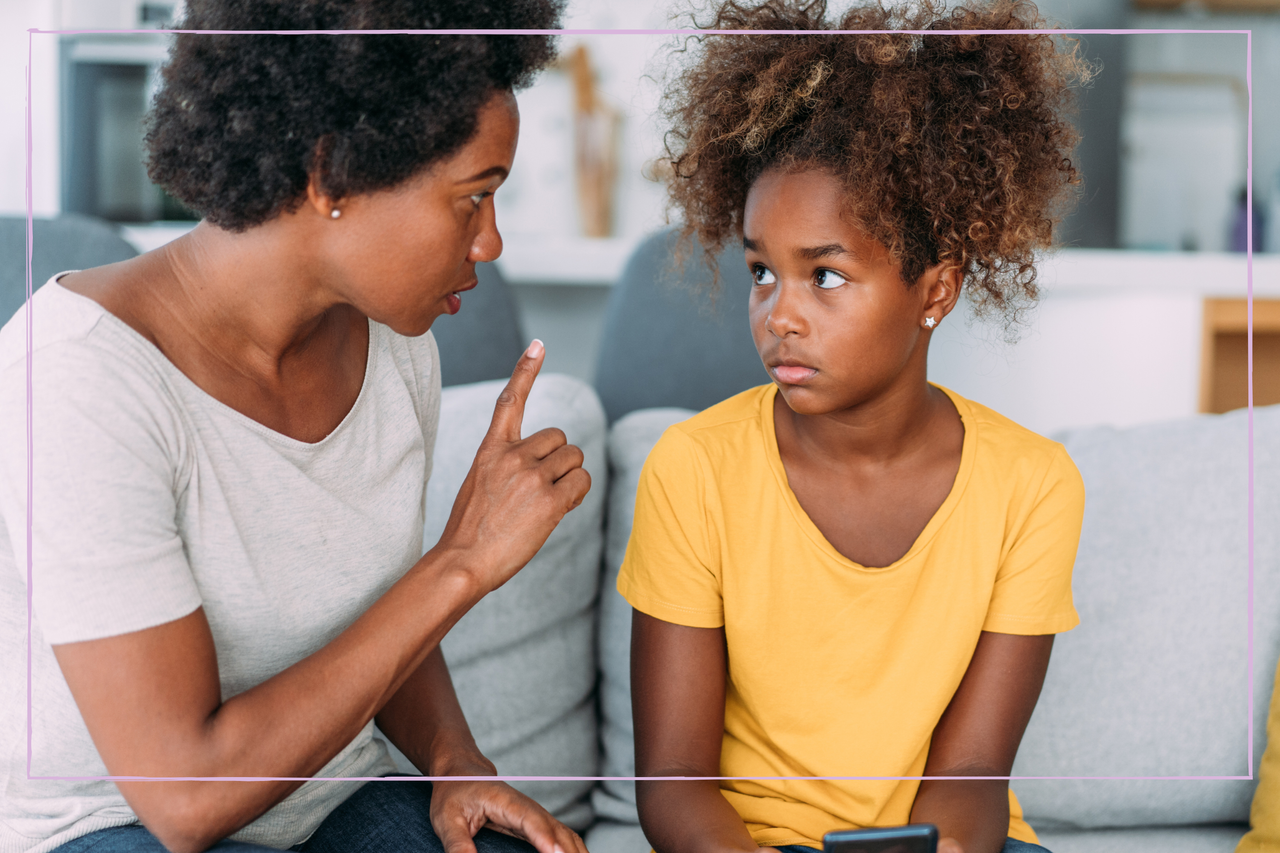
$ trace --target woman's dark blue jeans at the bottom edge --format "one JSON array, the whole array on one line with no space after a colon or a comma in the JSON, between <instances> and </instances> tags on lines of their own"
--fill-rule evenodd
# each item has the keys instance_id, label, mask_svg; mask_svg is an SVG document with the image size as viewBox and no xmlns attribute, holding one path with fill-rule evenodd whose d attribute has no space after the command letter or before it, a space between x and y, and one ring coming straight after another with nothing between
<instances>
[{"instance_id":1,"label":"woman's dark blue jeans at the bottom edge","mask_svg":"<svg viewBox=\"0 0 1280 853\"><path fill-rule=\"evenodd\" d=\"M444 853L431 829L431 783L367 783L329 817L306 841L301 853ZM527 841L483 829L475 836L479 853L534 853ZM219 841L216 853L264 853L274 848L243 841ZM145 826L132 824L99 830L58 847L54 853L166 853Z\"/></svg>"}]
</instances>

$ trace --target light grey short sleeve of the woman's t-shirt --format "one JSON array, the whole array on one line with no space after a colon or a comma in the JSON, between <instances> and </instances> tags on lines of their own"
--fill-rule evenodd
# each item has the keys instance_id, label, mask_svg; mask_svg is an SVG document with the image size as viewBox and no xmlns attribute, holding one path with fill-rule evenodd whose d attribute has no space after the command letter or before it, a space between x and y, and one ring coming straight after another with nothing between
<instances>
[{"instance_id":1,"label":"light grey short sleeve of the woman's t-shirt","mask_svg":"<svg viewBox=\"0 0 1280 853\"><path fill-rule=\"evenodd\" d=\"M201 605L178 534L183 433L137 359L38 350L31 394L31 597L49 643L152 628ZM0 516L27 581L26 360L0 371ZM8 561L6 561L8 562Z\"/></svg>"}]
</instances>

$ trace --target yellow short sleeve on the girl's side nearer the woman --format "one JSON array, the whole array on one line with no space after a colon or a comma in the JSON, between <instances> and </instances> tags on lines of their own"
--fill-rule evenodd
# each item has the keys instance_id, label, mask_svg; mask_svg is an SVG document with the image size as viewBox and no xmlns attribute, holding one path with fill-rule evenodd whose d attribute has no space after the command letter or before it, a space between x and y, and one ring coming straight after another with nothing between
<instances>
[{"instance_id":1,"label":"yellow short sleeve on the girl's side nearer the woman","mask_svg":"<svg viewBox=\"0 0 1280 853\"><path fill-rule=\"evenodd\" d=\"M666 622L719 628L724 603L710 533L704 460L678 426L668 428L640 471L618 592Z\"/></svg>"}]
</instances>

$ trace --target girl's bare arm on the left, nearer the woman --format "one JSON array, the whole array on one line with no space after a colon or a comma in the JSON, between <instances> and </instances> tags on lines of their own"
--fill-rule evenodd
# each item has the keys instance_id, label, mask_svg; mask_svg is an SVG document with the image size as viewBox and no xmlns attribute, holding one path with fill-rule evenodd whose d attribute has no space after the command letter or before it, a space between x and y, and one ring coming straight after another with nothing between
<instances>
[{"instance_id":1,"label":"girl's bare arm on the left, nearer the woman","mask_svg":"<svg viewBox=\"0 0 1280 853\"><path fill-rule=\"evenodd\" d=\"M719 776L728 652L723 628L631 611L631 712L637 776ZM756 847L710 781L637 781L640 826L657 853Z\"/></svg>"}]
</instances>

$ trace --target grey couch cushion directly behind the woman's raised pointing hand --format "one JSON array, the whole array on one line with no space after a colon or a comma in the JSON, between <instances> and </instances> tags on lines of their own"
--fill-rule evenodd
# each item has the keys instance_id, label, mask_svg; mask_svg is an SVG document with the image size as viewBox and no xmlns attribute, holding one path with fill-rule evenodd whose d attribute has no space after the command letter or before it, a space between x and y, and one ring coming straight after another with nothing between
<instances>
[{"instance_id":1,"label":"grey couch cushion directly behind the woman's raised pointing hand","mask_svg":"<svg viewBox=\"0 0 1280 853\"><path fill-rule=\"evenodd\" d=\"M506 382L445 388L428 483L424 543L440 538ZM549 374L525 406L524 434L559 426L582 448L591 491L506 585L440 644L480 749L512 776L596 775L595 598L603 548L604 411L590 386ZM402 756L401 767L410 770ZM518 783L575 829L591 824L590 781Z\"/></svg>"}]
</instances>

